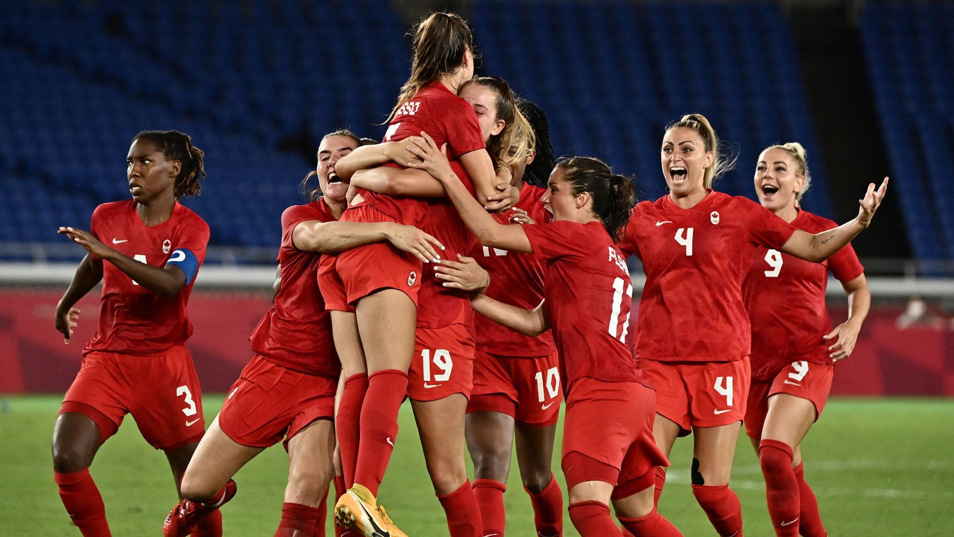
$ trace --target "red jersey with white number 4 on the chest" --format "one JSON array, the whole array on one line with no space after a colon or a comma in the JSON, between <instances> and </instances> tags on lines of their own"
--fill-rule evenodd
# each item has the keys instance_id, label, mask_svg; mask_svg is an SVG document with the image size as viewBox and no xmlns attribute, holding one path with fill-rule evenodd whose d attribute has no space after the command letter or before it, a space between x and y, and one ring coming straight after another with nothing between
<instances>
[{"instance_id":1,"label":"red jersey with white number 4 on the chest","mask_svg":"<svg viewBox=\"0 0 954 537\"><path fill-rule=\"evenodd\" d=\"M742 280L752 252L780 248L795 229L748 198L711 190L688 209L669 195L636 204L619 245L646 272L636 357L728 361L749 354Z\"/></svg>"}]
</instances>

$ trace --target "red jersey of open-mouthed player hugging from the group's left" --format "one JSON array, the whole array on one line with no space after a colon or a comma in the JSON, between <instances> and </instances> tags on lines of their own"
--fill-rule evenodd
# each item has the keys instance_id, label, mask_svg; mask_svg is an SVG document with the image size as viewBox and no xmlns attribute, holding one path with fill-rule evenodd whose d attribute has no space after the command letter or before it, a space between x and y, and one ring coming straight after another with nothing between
<instances>
[{"instance_id":1,"label":"red jersey of open-mouthed player hugging from the group's left","mask_svg":"<svg viewBox=\"0 0 954 537\"><path fill-rule=\"evenodd\" d=\"M255 327L252 350L265 359L309 375L338 378L341 362L331 336L331 315L318 289L321 254L301 251L292 242L295 227L317 220L333 222L324 200L292 205L281 213L281 288L275 305Z\"/></svg>"}]
</instances>

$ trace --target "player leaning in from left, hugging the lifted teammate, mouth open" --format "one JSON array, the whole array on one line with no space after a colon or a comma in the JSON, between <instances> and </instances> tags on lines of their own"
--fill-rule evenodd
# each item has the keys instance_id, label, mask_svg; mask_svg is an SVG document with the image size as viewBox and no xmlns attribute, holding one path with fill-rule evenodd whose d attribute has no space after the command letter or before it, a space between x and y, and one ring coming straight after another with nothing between
<instances>
[{"instance_id":1,"label":"player leaning in from left, hugging the lifted teammate, mouth open","mask_svg":"<svg viewBox=\"0 0 954 537\"><path fill-rule=\"evenodd\" d=\"M232 385L186 470L185 500L167 517L166 537L189 535L235 495L232 476L282 440L288 451L288 486L275 535L324 535L321 505L333 475L332 419L341 366L318 289L321 256L315 252L384 237L399 247L409 243L420 247L424 237L411 226L337 222L345 207L347 185L335 175L335 164L359 144L349 131L325 135L317 171L302 183L306 186L311 175L317 175L319 187L307 191L308 204L292 205L281 216L275 305L252 333L256 354Z\"/></svg>"}]
</instances>

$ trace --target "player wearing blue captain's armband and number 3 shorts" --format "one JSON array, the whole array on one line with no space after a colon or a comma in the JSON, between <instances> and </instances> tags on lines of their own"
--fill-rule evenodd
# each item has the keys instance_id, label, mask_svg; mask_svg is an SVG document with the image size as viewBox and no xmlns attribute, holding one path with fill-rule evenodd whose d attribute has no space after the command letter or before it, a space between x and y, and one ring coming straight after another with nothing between
<instances>
[{"instance_id":1,"label":"player wearing blue captain's armband and number 3 shorts","mask_svg":"<svg viewBox=\"0 0 954 537\"><path fill-rule=\"evenodd\" d=\"M186 304L205 258L209 226L178 203L201 192L202 157L188 135L140 132L126 157L133 199L96 207L90 231L58 231L88 252L56 307L56 330L66 343L79 319L73 306L103 282L99 325L63 397L52 441L60 498L88 537L110 535L89 467L126 414L146 441L165 452L179 498L179 481L202 438L202 397L185 347L192 334ZM218 513L194 533L221 534Z\"/></svg>"}]
</instances>

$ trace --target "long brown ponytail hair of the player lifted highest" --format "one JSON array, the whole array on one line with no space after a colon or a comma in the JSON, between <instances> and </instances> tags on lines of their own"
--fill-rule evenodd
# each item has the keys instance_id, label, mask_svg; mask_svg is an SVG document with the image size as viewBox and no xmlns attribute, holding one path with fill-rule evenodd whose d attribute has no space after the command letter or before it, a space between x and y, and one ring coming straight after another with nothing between
<instances>
[{"instance_id":1,"label":"long brown ponytail hair of the player lifted highest","mask_svg":"<svg viewBox=\"0 0 954 537\"><path fill-rule=\"evenodd\" d=\"M412 48L411 75L401 87L388 121L425 84L457 70L464 63L467 50L478 57L470 27L457 13L431 13L422 19L414 29Z\"/></svg>"}]
</instances>

